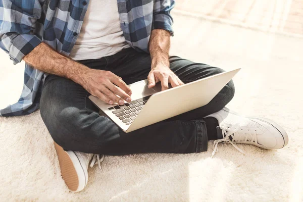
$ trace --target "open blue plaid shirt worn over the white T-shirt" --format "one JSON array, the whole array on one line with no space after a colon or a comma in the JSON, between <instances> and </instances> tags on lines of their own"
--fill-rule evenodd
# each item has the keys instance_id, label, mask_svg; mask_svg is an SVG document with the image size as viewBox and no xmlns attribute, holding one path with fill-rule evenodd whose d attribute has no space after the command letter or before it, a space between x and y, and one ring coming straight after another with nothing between
<instances>
[{"instance_id":1,"label":"open blue plaid shirt worn over the white T-shirt","mask_svg":"<svg viewBox=\"0 0 303 202\"><path fill-rule=\"evenodd\" d=\"M117 1L123 35L136 51L148 52L153 29L165 29L173 35L170 11L174 0ZM14 64L41 41L68 56L88 4L89 0L0 0L0 47ZM16 104L0 110L0 116L21 116L37 110L45 76L26 64L22 94Z\"/></svg>"}]
</instances>

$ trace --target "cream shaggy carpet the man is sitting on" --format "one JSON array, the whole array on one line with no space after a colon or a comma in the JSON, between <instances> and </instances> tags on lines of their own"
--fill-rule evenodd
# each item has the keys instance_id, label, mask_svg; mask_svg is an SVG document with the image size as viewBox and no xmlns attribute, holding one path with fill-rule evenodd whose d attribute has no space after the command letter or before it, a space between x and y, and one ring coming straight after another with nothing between
<instances>
[{"instance_id":1,"label":"cream shaggy carpet the man is sitting on","mask_svg":"<svg viewBox=\"0 0 303 202\"><path fill-rule=\"evenodd\" d=\"M235 76L234 111L273 119L289 135L281 150L220 144L200 154L107 156L89 169L85 190L71 193L60 176L39 112L0 118L0 201L302 201L303 38L274 35L175 14L172 54ZM23 64L0 53L0 108L21 92Z\"/></svg>"}]
</instances>

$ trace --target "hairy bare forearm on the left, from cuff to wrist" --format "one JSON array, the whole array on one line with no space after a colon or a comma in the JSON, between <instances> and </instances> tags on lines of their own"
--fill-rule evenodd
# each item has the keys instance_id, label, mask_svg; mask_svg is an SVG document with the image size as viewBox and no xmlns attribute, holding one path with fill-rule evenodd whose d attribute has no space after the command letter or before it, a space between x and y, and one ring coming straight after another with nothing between
<instances>
[{"instance_id":1,"label":"hairy bare forearm on the left, from cuff to wrist","mask_svg":"<svg viewBox=\"0 0 303 202\"><path fill-rule=\"evenodd\" d=\"M59 54L43 42L37 45L23 60L38 70L66 77L80 85L83 83L83 75L88 70L86 66Z\"/></svg>"}]
</instances>

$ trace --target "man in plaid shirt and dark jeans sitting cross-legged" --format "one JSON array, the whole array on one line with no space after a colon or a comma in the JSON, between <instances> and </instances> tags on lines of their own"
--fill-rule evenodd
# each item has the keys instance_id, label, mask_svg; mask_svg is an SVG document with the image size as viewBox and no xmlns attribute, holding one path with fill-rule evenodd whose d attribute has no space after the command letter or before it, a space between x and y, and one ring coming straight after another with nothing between
<instances>
[{"instance_id":1,"label":"man in plaid shirt and dark jeans sitting cross-legged","mask_svg":"<svg viewBox=\"0 0 303 202\"><path fill-rule=\"evenodd\" d=\"M26 115L40 108L71 191L85 187L88 164L99 160L99 154L199 153L207 150L208 140L215 140L214 152L222 141L266 149L288 143L286 132L276 123L241 117L224 108L234 95L232 81L208 105L128 134L98 114L90 94L123 105L131 101L127 84L142 79L148 79L149 88L161 82L166 90L169 83L175 87L223 72L169 57L174 4L173 0L1 1L0 47L14 64L26 62L21 97L1 110L1 116Z\"/></svg>"}]
</instances>

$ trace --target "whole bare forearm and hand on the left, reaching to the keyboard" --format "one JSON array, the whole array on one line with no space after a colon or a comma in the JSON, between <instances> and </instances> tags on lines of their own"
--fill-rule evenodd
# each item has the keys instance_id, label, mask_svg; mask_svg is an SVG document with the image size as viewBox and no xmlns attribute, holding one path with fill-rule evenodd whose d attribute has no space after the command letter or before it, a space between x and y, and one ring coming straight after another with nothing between
<instances>
[{"instance_id":1,"label":"whole bare forearm and hand on the left, reaching to the keyboard","mask_svg":"<svg viewBox=\"0 0 303 202\"><path fill-rule=\"evenodd\" d=\"M124 105L123 99L131 101L131 90L121 77L110 71L89 69L57 53L44 42L37 45L23 60L38 70L75 81L108 104Z\"/></svg>"}]
</instances>

